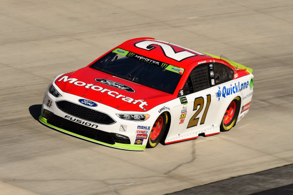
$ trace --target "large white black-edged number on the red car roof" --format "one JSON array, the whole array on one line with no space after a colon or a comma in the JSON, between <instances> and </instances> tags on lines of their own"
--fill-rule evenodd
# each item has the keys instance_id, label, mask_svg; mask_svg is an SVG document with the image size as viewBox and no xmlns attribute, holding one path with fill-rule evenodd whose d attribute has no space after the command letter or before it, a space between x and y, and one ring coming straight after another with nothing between
<instances>
[{"instance_id":1,"label":"large white black-edged number on the red car roof","mask_svg":"<svg viewBox=\"0 0 293 195\"><path fill-rule=\"evenodd\" d=\"M189 51L179 51L179 52L175 52L175 50L173 49L173 47L171 47L168 44L165 43L160 43L160 42L154 42L154 41L142 41L139 43L135 43L134 46L139 47L141 49L145 49L145 50L152 50L154 48L156 48L155 45L159 45L164 53L164 55L168 58L171 58L173 60L176 60L178 62L181 62L184 59L196 56L194 53L197 53L199 55L204 55L202 53L199 52L195 52L191 53Z\"/></svg>"}]
</instances>

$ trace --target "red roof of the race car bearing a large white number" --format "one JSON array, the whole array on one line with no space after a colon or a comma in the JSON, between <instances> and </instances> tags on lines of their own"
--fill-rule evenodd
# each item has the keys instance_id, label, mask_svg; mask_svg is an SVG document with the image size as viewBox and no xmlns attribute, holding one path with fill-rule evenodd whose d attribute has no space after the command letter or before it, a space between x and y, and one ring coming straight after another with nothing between
<instances>
[{"instance_id":1,"label":"red roof of the race car bearing a large white number","mask_svg":"<svg viewBox=\"0 0 293 195\"><path fill-rule=\"evenodd\" d=\"M150 45L149 47L152 47L152 48L151 49L140 48L138 46L139 44L137 44L137 43L142 43L142 42L145 42L146 44L151 43L151 44L149 44ZM165 49L163 49L162 46L160 46L162 44ZM166 45L171 46L171 48ZM195 50L192 50L192 49L180 46L180 45L176 45L173 43L167 43L167 42L155 40L154 38L131 39L131 40L128 40L128 41L122 43L121 45L119 45L118 48L125 49L127 51L146 56L147 58L151 58L151 59L154 59L157 61L161 61L163 63L175 65L177 67L185 68L185 69L187 69L188 65L190 65L192 63L199 62L199 61L202 61L202 63L206 63L205 60L212 60L213 59L212 57L208 56L207 54L204 54L204 53L201 53L201 52L198 52L198 51L195 51ZM170 49L173 49L173 51ZM179 60L178 59L175 60L172 58L172 56L181 55L182 53L180 53L180 52L183 52L183 51L185 51L186 54L191 55L191 57L187 57L185 59L179 59Z\"/></svg>"}]
</instances>

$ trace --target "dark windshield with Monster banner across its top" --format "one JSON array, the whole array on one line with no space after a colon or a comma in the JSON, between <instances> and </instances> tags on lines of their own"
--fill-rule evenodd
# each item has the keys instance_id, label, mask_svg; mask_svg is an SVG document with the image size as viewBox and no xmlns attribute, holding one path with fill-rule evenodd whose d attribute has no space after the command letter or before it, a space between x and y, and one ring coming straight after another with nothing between
<instances>
[{"instance_id":1,"label":"dark windshield with Monster banner across its top","mask_svg":"<svg viewBox=\"0 0 293 195\"><path fill-rule=\"evenodd\" d=\"M183 68L120 48L111 51L90 67L167 93L174 92L184 72Z\"/></svg>"}]
</instances>

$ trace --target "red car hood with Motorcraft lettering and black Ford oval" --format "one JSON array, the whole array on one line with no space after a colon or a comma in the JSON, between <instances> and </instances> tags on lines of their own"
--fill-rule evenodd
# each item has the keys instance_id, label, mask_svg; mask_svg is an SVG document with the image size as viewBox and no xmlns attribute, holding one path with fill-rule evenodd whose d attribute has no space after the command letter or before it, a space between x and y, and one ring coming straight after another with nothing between
<instances>
[{"instance_id":1,"label":"red car hood with Motorcraft lettering and black Ford oval","mask_svg":"<svg viewBox=\"0 0 293 195\"><path fill-rule=\"evenodd\" d=\"M66 93L123 111L147 111L175 99L172 94L142 86L88 66L61 75L55 84Z\"/></svg>"}]
</instances>

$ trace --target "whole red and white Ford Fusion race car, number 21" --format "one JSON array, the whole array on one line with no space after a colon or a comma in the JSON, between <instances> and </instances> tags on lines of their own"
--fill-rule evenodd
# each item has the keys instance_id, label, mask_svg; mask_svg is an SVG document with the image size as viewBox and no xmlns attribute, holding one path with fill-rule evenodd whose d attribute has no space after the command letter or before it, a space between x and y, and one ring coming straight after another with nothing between
<instances>
[{"instance_id":1,"label":"whole red and white Ford Fusion race car, number 21","mask_svg":"<svg viewBox=\"0 0 293 195\"><path fill-rule=\"evenodd\" d=\"M249 111L252 94L251 68L137 38L56 76L39 119L91 142L142 151L230 130Z\"/></svg>"}]
</instances>

